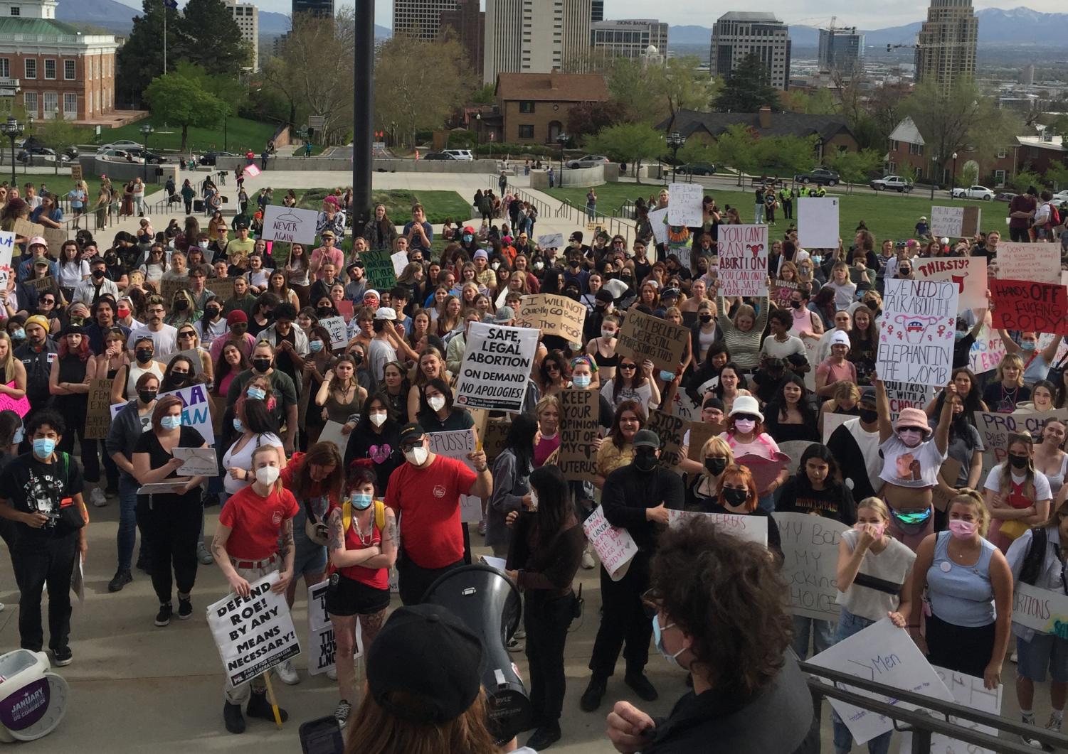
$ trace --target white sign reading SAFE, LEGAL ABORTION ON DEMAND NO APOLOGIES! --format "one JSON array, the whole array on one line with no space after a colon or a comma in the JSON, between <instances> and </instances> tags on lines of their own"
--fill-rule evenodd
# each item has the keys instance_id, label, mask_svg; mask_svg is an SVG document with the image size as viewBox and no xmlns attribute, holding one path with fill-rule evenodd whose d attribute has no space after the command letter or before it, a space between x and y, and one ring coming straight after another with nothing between
<instances>
[{"instance_id":1,"label":"white sign reading SAFE, LEGAL ABORTION ON DEMAND NO APOLOGIES!","mask_svg":"<svg viewBox=\"0 0 1068 754\"><path fill-rule=\"evenodd\" d=\"M537 339L530 327L472 322L456 383L457 405L520 413Z\"/></svg>"}]
</instances>

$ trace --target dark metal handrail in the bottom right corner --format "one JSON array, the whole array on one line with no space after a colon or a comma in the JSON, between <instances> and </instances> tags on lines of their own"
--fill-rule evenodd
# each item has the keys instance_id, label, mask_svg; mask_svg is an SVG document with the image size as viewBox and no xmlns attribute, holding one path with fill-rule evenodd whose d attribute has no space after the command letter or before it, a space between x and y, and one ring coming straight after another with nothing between
<instances>
[{"instance_id":1,"label":"dark metal handrail in the bottom right corner","mask_svg":"<svg viewBox=\"0 0 1068 754\"><path fill-rule=\"evenodd\" d=\"M954 702L932 699L931 696L925 696L914 691L894 688L885 684L820 668L807 662L801 662L800 667L803 672L810 674L808 690L815 700L822 699L823 696L836 699L855 707L892 718L895 721L894 727L898 731L911 731L912 754L929 754L932 734L942 734L967 744L981 747L994 752L1004 752L1005 754L1033 754L1035 751L1020 740L998 738L996 736L959 725L957 722L951 721L951 717L993 727L998 731L1004 731L1014 737L1026 735L1028 739L1034 739L1057 749L1068 748L1068 736L1063 733L1054 733L1035 725L1016 722L1000 715L981 712ZM824 683L824 678L833 681L833 685ZM862 689L896 701L894 703L882 702L842 688L837 684ZM898 704L899 702L914 704L921 707L921 709L906 709ZM897 722L905 723L905 725L898 727Z\"/></svg>"}]
</instances>

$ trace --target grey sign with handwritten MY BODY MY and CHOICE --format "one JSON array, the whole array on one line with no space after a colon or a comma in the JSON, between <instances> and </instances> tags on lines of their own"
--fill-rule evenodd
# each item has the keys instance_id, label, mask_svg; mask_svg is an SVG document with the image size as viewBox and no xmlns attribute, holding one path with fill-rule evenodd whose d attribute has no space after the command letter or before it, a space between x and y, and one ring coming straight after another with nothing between
<instances>
[{"instance_id":1,"label":"grey sign with handwritten MY BODY MY and CHOICE","mask_svg":"<svg viewBox=\"0 0 1068 754\"><path fill-rule=\"evenodd\" d=\"M838 620L838 543L845 524L807 513L772 513L783 547L782 576L795 615Z\"/></svg>"}]
</instances>

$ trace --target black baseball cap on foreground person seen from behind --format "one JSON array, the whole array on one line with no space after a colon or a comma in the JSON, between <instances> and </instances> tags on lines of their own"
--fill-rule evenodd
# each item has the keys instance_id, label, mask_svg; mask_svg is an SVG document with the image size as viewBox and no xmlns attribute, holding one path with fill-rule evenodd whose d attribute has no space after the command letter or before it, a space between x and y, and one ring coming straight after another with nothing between
<instances>
[{"instance_id":1,"label":"black baseball cap on foreground person seen from behind","mask_svg":"<svg viewBox=\"0 0 1068 754\"><path fill-rule=\"evenodd\" d=\"M367 649L367 690L391 715L441 725L471 708L484 665L482 640L451 610L400 607Z\"/></svg>"}]
</instances>

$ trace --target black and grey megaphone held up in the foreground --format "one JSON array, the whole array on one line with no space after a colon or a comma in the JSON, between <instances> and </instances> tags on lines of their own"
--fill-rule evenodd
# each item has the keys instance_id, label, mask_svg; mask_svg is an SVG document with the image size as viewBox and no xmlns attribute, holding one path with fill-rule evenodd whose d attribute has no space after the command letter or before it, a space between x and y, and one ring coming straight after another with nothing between
<instances>
[{"instance_id":1,"label":"black and grey megaphone held up in the foreground","mask_svg":"<svg viewBox=\"0 0 1068 754\"><path fill-rule=\"evenodd\" d=\"M530 727L531 703L519 669L505 647L519 627L519 589L497 568L483 564L450 571L430 584L423 603L452 610L480 639L486 652L482 686L489 708L487 726L499 742Z\"/></svg>"}]
</instances>

